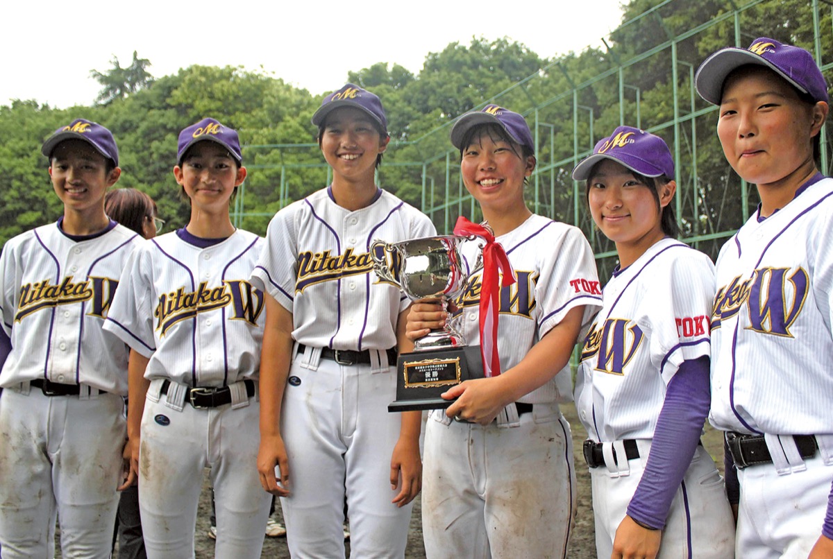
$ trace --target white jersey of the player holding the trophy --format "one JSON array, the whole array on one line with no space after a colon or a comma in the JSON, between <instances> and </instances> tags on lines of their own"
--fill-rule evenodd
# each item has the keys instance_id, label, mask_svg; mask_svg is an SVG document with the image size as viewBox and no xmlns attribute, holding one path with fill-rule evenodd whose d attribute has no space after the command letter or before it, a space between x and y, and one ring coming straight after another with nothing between
<instances>
[{"instance_id":1,"label":"white jersey of the player holding the trophy","mask_svg":"<svg viewBox=\"0 0 833 559\"><path fill-rule=\"evenodd\" d=\"M590 245L581 230L572 225L531 215L496 241L506 250L517 278L515 284L501 288L497 349L501 371L506 371L520 363L573 307L586 305L582 324L587 324L601 306L601 289ZM480 255L481 244L474 240L462 247L467 273ZM475 270L466 291L456 301L462 309L461 334L470 345L480 343L480 290L481 272ZM519 401L571 402L570 365Z\"/></svg>"}]
</instances>

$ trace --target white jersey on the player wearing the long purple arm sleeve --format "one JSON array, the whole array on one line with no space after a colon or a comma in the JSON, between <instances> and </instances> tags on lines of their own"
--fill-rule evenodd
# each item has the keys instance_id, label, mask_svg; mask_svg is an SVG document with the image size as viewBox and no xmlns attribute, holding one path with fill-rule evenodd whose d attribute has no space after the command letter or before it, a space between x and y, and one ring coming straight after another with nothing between
<instances>
[{"instance_id":1,"label":"white jersey on the player wearing the long purple arm sleeve","mask_svg":"<svg viewBox=\"0 0 833 559\"><path fill-rule=\"evenodd\" d=\"M576 408L593 440L653 437L677 368L709 355L714 293L709 257L670 238L613 275L576 374Z\"/></svg>"}]
</instances>

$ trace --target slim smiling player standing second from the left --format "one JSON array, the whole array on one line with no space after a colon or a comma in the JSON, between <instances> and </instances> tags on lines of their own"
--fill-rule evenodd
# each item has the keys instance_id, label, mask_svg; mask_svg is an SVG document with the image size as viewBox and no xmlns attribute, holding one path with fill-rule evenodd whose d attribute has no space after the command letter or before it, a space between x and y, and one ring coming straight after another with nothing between
<instances>
[{"instance_id":1,"label":"slim smiling player standing second from the left","mask_svg":"<svg viewBox=\"0 0 833 559\"><path fill-rule=\"evenodd\" d=\"M212 118L188 126L173 175L191 220L132 255L106 325L131 349L127 433L147 557L194 557L203 467L216 497L216 557L260 557L263 294L248 279L262 239L229 219L246 178L237 132Z\"/></svg>"}]
</instances>

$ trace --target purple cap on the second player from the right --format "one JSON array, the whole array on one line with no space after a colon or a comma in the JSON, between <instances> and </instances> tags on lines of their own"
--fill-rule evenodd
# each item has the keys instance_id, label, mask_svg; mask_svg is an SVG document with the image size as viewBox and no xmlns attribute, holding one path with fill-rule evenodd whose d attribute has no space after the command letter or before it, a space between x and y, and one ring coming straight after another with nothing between
<instances>
[{"instance_id":1,"label":"purple cap on the second player from the right","mask_svg":"<svg viewBox=\"0 0 833 559\"><path fill-rule=\"evenodd\" d=\"M621 163L642 176L674 178L674 158L666 142L660 136L639 128L619 126L610 136L599 140L593 148L593 155L573 169L573 179L586 181L593 166L604 159Z\"/></svg>"}]
</instances>

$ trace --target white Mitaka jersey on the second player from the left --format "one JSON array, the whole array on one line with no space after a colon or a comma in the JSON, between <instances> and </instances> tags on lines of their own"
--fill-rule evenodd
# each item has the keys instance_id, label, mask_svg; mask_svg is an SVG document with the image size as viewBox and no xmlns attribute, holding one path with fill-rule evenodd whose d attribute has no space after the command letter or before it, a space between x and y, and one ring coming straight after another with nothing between
<instances>
[{"instance_id":1,"label":"white Mitaka jersey on the second player from the left","mask_svg":"<svg viewBox=\"0 0 833 559\"><path fill-rule=\"evenodd\" d=\"M249 275L262 238L238 229L205 248L186 238L174 231L136 250L105 329L150 359L147 379L220 387L257 378L266 313Z\"/></svg>"}]
</instances>

